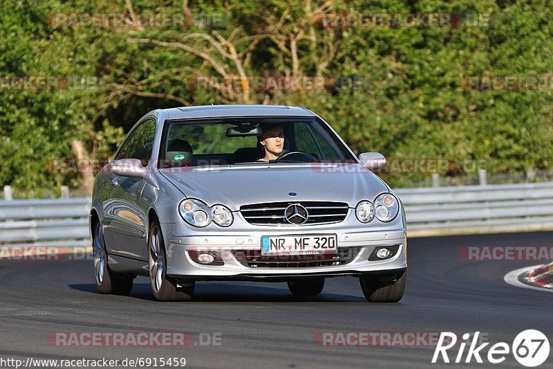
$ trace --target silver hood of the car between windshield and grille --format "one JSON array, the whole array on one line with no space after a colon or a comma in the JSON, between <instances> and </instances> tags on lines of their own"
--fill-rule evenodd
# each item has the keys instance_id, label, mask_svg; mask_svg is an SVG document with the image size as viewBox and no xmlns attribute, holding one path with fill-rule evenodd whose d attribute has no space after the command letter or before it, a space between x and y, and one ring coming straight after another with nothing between
<instances>
[{"instance_id":1,"label":"silver hood of the car between windshield and grille","mask_svg":"<svg viewBox=\"0 0 553 369\"><path fill-rule=\"evenodd\" d=\"M260 166L262 165L262 166ZM207 205L239 210L246 204L277 201L343 201L350 207L373 199L387 186L362 165L234 165L232 167L161 169L186 197ZM290 193L296 193L291 196Z\"/></svg>"}]
</instances>

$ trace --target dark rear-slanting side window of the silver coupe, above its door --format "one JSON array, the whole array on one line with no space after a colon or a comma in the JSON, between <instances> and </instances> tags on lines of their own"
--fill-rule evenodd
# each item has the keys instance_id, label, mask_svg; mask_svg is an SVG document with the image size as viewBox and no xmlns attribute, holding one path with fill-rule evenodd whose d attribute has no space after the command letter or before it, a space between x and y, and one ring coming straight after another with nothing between
<instances>
[{"instance_id":1,"label":"dark rear-slanting side window of the silver coupe, above its door","mask_svg":"<svg viewBox=\"0 0 553 369\"><path fill-rule=\"evenodd\" d=\"M148 165L153 150L153 136L155 134L156 121L153 119L144 121L126 139L115 159L139 159L142 165Z\"/></svg>"}]
</instances>

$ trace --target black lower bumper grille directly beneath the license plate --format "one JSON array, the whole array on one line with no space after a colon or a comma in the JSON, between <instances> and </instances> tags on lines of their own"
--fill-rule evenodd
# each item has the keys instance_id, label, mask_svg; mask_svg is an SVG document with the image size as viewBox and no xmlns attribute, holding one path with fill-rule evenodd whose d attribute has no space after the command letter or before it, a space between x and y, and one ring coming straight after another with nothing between
<instances>
[{"instance_id":1,"label":"black lower bumper grille directly beneath the license plate","mask_svg":"<svg viewBox=\"0 0 553 369\"><path fill-rule=\"evenodd\" d=\"M249 268L310 268L330 267L352 262L362 247L342 247L335 254L323 255L261 255L261 250L234 250L232 254Z\"/></svg>"}]
</instances>

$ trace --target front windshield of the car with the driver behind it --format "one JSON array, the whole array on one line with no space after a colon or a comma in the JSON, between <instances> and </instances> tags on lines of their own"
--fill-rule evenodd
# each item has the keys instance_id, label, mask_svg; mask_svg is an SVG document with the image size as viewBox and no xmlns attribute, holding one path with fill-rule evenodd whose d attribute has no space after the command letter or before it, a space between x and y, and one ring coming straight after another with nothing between
<instances>
[{"instance_id":1,"label":"front windshield of the car with the driver behind it","mask_svg":"<svg viewBox=\"0 0 553 369\"><path fill-rule=\"evenodd\" d=\"M355 162L315 117L214 118L166 123L163 168L244 163Z\"/></svg>"}]
</instances>

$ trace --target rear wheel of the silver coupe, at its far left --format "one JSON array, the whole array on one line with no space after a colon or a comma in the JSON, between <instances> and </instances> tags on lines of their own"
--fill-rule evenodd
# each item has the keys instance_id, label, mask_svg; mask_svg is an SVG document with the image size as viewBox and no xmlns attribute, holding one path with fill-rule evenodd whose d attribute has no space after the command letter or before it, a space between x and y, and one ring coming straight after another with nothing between
<instances>
[{"instance_id":1,"label":"rear wheel of the silver coupe, at its far left","mask_svg":"<svg viewBox=\"0 0 553 369\"><path fill-rule=\"evenodd\" d=\"M100 294L128 295L133 289L134 276L115 273L109 269L108 253L102 224L94 225L93 238L94 279Z\"/></svg>"}]
</instances>

